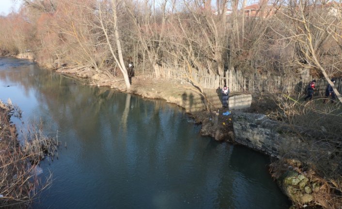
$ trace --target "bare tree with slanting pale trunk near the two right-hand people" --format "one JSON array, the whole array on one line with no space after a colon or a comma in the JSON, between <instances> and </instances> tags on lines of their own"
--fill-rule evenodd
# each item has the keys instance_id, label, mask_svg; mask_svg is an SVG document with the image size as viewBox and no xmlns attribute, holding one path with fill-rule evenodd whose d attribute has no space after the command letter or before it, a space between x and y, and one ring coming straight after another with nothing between
<instances>
[{"instance_id":1,"label":"bare tree with slanting pale trunk near the two right-hand people","mask_svg":"<svg viewBox=\"0 0 342 209\"><path fill-rule=\"evenodd\" d=\"M324 61L320 59L326 57L319 56L320 49L329 39L335 40L339 46L342 43L342 39L336 36L339 34L337 31L341 30L341 21L329 13L330 8L330 5L319 4L316 1L290 0L289 6L281 14L291 20L282 21L283 26L291 32L291 36L283 38L292 39L299 44L302 63L318 69L342 102L342 96L328 77L323 66ZM342 50L338 55L341 56L341 53Z\"/></svg>"}]
</instances>

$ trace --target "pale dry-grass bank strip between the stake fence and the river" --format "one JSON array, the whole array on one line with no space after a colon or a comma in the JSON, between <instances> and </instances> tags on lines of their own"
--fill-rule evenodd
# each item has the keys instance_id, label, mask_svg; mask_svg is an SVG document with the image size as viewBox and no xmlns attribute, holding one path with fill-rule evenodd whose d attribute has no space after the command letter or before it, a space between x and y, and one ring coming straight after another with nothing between
<instances>
[{"instance_id":1,"label":"pale dry-grass bank strip between the stake fence and the river","mask_svg":"<svg viewBox=\"0 0 342 209\"><path fill-rule=\"evenodd\" d=\"M109 80L93 75L92 72L79 69L58 69L57 72L72 74L89 80L91 85L109 86L121 92L131 93L151 99L163 99L176 104L189 113L196 123L202 124L201 134L211 136L217 141L233 142L232 115L223 115L228 111L222 107L220 90L205 89L211 111L205 110L202 95L190 83L182 80L155 79L136 75L132 78L131 88L127 91L123 79ZM230 96L238 95L232 93Z\"/></svg>"}]
</instances>

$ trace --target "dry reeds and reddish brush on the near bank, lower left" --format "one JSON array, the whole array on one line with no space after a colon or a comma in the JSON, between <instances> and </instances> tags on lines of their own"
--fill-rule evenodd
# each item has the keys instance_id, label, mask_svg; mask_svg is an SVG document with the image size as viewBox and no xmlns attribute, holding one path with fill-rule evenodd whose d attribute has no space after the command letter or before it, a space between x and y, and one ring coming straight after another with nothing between
<instances>
[{"instance_id":1,"label":"dry reeds and reddish brush on the near bank, lower left","mask_svg":"<svg viewBox=\"0 0 342 209\"><path fill-rule=\"evenodd\" d=\"M0 108L0 208L27 208L51 182L52 175L38 177L36 167L44 156L55 153L58 142L45 137L42 129L32 129L25 145L19 145L9 121L13 110L11 105Z\"/></svg>"}]
</instances>

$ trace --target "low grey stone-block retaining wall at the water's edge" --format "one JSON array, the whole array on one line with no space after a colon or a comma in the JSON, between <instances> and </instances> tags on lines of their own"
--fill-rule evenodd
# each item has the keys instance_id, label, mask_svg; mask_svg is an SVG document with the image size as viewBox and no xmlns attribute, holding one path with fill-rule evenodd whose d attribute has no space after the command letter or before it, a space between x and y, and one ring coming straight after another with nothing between
<instances>
[{"instance_id":1,"label":"low grey stone-block retaining wall at the water's edge","mask_svg":"<svg viewBox=\"0 0 342 209\"><path fill-rule=\"evenodd\" d=\"M272 157L297 153L305 146L290 127L263 114L233 113L234 141ZM280 156L279 156L280 155Z\"/></svg>"}]
</instances>

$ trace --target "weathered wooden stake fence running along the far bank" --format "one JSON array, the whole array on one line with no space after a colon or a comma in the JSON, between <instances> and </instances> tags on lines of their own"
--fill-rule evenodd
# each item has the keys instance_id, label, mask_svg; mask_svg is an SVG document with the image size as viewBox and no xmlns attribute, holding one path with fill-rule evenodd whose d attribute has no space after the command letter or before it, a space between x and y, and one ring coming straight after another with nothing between
<instances>
[{"instance_id":1,"label":"weathered wooden stake fence running along the far bank","mask_svg":"<svg viewBox=\"0 0 342 209\"><path fill-rule=\"evenodd\" d=\"M164 67L162 68L162 75L166 79L181 79L187 80L187 73L182 67ZM222 88L226 84L232 92L264 92L264 93L301 93L305 94L309 82L312 80L311 76L301 76L298 74L293 77L280 77L274 75L259 75L244 76L241 71L230 69L226 71L226 76L223 75L209 75L192 72L191 75L196 82L203 88L217 89ZM316 79L317 80L317 79ZM327 81L317 80L316 82L316 96L324 96L326 91ZM336 79L335 86L342 94L342 78Z\"/></svg>"}]
</instances>

